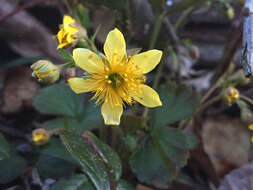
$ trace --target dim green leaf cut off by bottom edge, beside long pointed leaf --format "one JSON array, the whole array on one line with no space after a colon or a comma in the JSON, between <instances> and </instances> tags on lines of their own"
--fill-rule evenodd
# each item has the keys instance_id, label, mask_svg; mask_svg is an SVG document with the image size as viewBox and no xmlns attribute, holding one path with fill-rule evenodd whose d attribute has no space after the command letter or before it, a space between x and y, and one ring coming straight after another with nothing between
<instances>
[{"instance_id":1,"label":"dim green leaf cut off by bottom edge, beside long pointed leaf","mask_svg":"<svg viewBox=\"0 0 253 190\"><path fill-rule=\"evenodd\" d=\"M57 181L50 190L95 190L95 188L85 175L79 174Z\"/></svg>"}]
</instances>

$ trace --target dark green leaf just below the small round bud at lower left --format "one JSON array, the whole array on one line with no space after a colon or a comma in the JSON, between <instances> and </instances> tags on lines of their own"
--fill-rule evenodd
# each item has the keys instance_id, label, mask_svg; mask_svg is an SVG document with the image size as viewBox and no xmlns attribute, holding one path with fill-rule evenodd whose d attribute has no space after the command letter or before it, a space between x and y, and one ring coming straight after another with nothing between
<instances>
[{"instance_id":1,"label":"dark green leaf just below the small round bud at lower left","mask_svg":"<svg viewBox=\"0 0 253 190\"><path fill-rule=\"evenodd\" d=\"M67 176L74 169L74 165L71 162L43 154L36 163L36 167L42 177L54 179Z\"/></svg>"}]
</instances>

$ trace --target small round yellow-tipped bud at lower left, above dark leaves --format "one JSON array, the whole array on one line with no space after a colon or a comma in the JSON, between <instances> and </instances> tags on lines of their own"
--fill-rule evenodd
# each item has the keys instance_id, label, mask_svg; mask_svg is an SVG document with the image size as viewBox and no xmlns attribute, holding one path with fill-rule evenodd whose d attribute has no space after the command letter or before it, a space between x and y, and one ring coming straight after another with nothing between
<instances>
[{"instance_id":1,"label":"small round yellow-tipped bud at lower left, above dark leaves","mask_svg":"<svg viewBox=\"0 0 253 190\"><path fill-rule=\"evenodd\" d=\"M32 132L32 139L36 145L44 145L49 142L50 134L43 128L35 129Z\"/></svg>"}]
</instances>

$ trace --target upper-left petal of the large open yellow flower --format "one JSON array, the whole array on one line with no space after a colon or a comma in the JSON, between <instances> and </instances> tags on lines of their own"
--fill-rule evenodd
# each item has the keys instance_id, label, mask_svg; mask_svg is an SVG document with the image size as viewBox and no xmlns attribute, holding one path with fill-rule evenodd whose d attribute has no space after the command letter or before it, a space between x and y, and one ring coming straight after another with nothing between
<instances>
[{"instance_id":1,"label":"upper-left petal of the large open yellow flower","mask_svg":"<svg viewBox=\"0 0 253 190\"><path fill-rule=\"evenodd\" d=\"M103 66L102 59L85 48L76 48L73 51L76 64L88 73L96 73Z\"/></svg>"}]
</instances>

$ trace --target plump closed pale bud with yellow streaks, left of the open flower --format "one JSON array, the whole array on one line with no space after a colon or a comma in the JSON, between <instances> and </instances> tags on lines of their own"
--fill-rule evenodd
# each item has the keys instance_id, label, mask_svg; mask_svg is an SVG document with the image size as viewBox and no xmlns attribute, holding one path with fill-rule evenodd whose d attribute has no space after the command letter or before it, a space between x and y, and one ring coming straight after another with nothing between
<instances>
[{"instance_id":1,"label":"plump closed pale bud with yellow streaks, left of the open flower","mask_svg":"<svg viewBox=\"0 0 253 190\"><path fill-rule=\"evenodd\" d=\"M60 67L48 60L39 60L32 64L32 76L42 83L54 83L60 78Z\"/></svg>"}]
</instances>

